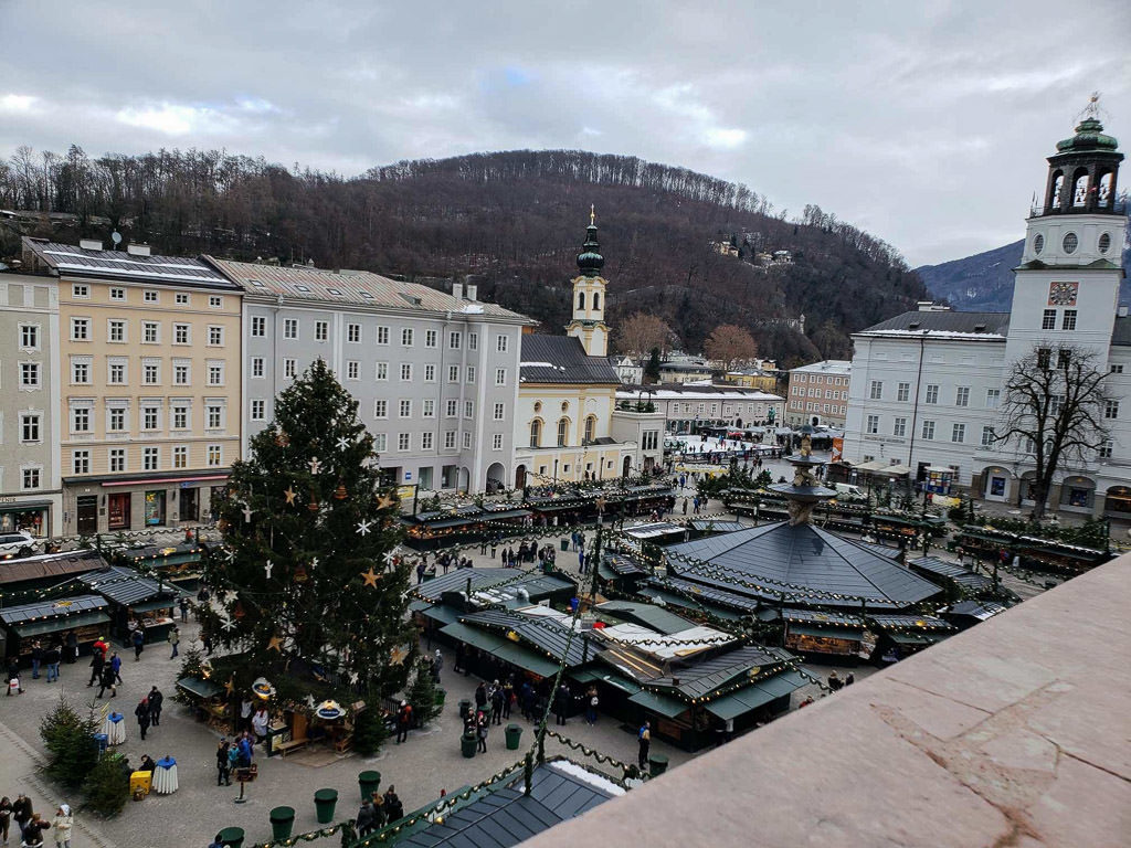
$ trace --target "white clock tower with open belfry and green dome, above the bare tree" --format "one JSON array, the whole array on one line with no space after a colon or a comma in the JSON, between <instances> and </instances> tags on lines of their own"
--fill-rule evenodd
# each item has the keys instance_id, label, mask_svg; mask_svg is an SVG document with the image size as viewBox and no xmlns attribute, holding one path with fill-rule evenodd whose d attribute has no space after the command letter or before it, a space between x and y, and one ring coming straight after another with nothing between
<instances>
[{"instance_id":1,"label":"white clock tower with open belfry and green dome, above the bare tree","mask_svg":"<svg viewBox=\"0 0 1131 848\"><path fill-rule=\"evenodd\" d=\"M1126 216L1116 197L1123 154L1097 113L1093 97L1076 135L1048 157L1044 200L1030 213L1015 275L1008 362L1034 347L1069 346L1107 360Z\"/></svg>"}]
</instances>

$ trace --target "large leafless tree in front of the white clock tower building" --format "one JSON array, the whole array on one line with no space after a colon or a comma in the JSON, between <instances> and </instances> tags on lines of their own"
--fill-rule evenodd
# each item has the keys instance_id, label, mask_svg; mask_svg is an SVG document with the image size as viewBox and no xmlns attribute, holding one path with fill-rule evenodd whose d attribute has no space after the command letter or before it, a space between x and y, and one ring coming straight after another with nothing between
<instances>
[{"instance_id":1,"label":"large leafless tree in front of the white clock tower building","mask_svg":"<svg viewBox=\"0 0 1131 848\"><path fill-rule=\"evenodd\" d=\"M1004 427L995 442L1016 440L1036 464L1033 518L1045 514L1056 471L1091 459L1111 436L1106 424L1114 397L1106 363L1081 347L1035 346L1012 364L1002 401Z\"/></svg>"}]
</instances>

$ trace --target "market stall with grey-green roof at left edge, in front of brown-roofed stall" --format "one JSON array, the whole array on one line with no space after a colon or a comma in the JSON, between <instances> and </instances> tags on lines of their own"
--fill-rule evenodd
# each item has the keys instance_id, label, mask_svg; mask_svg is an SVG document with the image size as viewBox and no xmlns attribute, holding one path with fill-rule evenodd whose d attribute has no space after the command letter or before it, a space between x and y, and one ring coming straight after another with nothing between
<instances>
[{"instance_id":1,"label":"market stall with grey-green roof at left edge, in front of brown-roofed stall","mask_svg":"<svg viewBox=\"0 0 1131 848\"><path fill-rule=\"evenodd\" d=\"M3 624L6 656L29 659L32 646L38 640L43 646L67 643L74 631L79 652L106 635L110 616L109 602L98 595L77 595L55 600L38 600L0 611Z\"/></svg>"}]
</instances>

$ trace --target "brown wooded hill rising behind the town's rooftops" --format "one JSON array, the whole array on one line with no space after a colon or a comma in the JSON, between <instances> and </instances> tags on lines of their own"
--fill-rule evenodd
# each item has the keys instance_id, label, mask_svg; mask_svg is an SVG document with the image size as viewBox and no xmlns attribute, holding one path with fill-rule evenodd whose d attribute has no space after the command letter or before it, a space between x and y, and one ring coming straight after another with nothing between
<instances>
[{"instance_id":1,"label":"brown wooded hill rising behind the town's rooftops","mask_svg":"<svg viewBox=\"0 0 1131 848\"><path fill-rule=\"evenodd\" d=\"M482 297L556 331L590 204L610 321L656 312L690 351L717 325L740 323L783 364L845 356L849 332L925 292L891 246L818 207L791 217L742 185L576 150L402 162L344 178L217 150L90 158L77 147L20 148L0 163L0 254L18 250L19 234L74 241L116 230L169 253L312 260L435 285L474 274ZM743 256L718 250L732 236ZM792 263L751 261L776 250Z\"/></svg>"}]
</instances>

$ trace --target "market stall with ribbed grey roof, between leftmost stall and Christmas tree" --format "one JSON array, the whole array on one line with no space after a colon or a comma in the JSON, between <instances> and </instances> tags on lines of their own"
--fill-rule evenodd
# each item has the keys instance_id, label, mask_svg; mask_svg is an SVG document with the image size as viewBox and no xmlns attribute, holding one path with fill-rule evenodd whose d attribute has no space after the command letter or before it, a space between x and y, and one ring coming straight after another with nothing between
<instances>
[{"instance_id":1,"label":"market stall with ribbed grey roof, between leftmost stall and Christmas tree","mask_svg":"<svg viewBox=\"0 0 1131 848\"><path fill-rule=\"evenodd\" d=\"M79 582L110 602L111 633L127 647L133 643L135 631L141 631L145 644L154 644L163 642L173 628L181 591L163 580L111 565L84 574Z\"/></svg>"}]
</instances>

